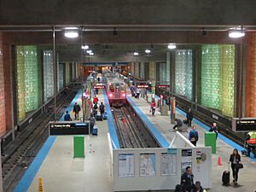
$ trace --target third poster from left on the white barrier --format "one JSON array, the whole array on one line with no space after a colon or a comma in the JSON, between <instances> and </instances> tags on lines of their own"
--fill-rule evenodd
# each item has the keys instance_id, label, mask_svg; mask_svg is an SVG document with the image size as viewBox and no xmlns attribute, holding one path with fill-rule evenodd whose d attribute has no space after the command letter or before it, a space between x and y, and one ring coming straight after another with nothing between
<instances>
[{"instance_id":1,"label":"third poster from left on the white barrier","mask_svg":"<svg viewBox=\"0 0 256 192\"><path fill-rule=\"evenodd\" d=\"M177 154L161 154L161 175L177 175Z\"/></svg>"}]
</instances>

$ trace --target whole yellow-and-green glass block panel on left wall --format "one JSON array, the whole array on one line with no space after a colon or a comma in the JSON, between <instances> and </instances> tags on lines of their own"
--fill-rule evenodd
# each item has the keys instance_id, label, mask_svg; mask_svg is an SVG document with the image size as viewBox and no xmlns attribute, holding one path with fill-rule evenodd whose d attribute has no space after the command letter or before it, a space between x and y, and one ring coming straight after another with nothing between
<instances>
[{"instance_id":1,"label":"whole yellow-and-green glass block panel on left wall","mask_svg":"<svg viewBox=\"0 0 256 192\"><path fill-rule=\"evenodd\" d=\"M39 107L37 46L16 46L18 120Z\"/></svg>"}]
</instances>

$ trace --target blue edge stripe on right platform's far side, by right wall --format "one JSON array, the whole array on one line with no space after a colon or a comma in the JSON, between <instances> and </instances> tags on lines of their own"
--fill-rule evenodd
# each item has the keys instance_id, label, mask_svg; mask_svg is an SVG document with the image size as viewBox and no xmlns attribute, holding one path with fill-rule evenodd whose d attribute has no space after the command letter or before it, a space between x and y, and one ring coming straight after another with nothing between
<instances>
[{"instance_id":1,"label":"blue edge stripe on right platform's far side, by right wall","mask_svg":"<svg viewBox=\"0 0 256 192\"><path fill-rule=\"evenodd\" d=\"M176 108L178 113L181 113L184 117L186 117L186 113L183 112L183 110ZM199 121L198 119L193 119L193 123L195 123L196 125L201 126L202 128L204 128L206 131L210 130L210 127L205 125L204 123L202 123L201 121ZM231 141L229 138L224 137L224 135L222 135L221 133L218 133L218 138L220 138L222 141L224 141L224 143L227 143L228 145L230 145L232 148L237 148L239 151L241 150L246 150L245 148L242 148L240 145L238 145L237 143ZM253 158L253 156L251 155L251 159L253 161L256 161L255 158Z\"/></svg>"}]
</instances>

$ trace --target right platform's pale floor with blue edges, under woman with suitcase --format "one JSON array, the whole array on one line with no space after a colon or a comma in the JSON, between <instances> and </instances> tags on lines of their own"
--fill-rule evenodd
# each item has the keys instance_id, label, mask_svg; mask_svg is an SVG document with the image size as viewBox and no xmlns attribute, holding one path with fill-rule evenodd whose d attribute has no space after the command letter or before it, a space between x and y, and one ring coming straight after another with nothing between
<instances>
[{"instance_id":1,"label":"right platform's pale floor with blue edges, under woman with suitcase","mask_svg":"<svg viewBox=\"0 0 256 192\"><path fill-rule=\"evenodd\" d=\"M157 108L155 115L152 116L152 114L149 113L149 103L146 102L143 98L137 99L128 96L128 101L131 103L131 106L137 111L137 114L142 117L142 119L146 118L150 121L152 126L151 129L156 129L165 138L163 139L162 143L166 143L166 141L167 143L172 142L172 138L175 136L175 131L172 130L172 127L174 125L171 124L170 112L169 116L161 116L160 111ZM176 117L178 119L185 119L185 113L177 108ZM197 119L193 120L192 125L196 125L197 131L199 132L199 141L197 143L197 146L204 146L204 135L209 127L207 127L207 125L204 125ZM182 132L182 134L184 137L188 137L188 132ZM230 169L230 186L223 186L221 180L222 173L225 170L228 170L228 161L230 160L230 154L232 154L234 148L238 148L238 150L242 149L236 143L233 143L228 138L219 134L217 139L217 153L212 154L212 189L208 189L207 191L256 191L255 178L253 177L256 172L256 161L248 157L241 157L241 163L244 165L244 168L239 171L238 184L235 185L234 183L232 183L232 172ZM222 160L222 166L218 166L218 157L220 157Z\"/></svg>"}]
</instances>

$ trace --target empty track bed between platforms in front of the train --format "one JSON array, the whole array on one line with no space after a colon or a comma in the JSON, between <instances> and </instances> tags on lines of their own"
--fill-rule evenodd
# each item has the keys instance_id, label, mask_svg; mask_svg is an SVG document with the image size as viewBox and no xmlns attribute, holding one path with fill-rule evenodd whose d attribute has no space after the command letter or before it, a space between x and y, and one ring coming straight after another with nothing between
<instances>
[{"instance_id":1,"label":"empty track bed between platforms in front of the train","mask_svg":"<svg viewBox=\"0 0 256 192\"><path fill-rule=\"evenodd\" d=\"M121 148L146 148L148 144L137 127L133 112L127 107L113 108L113 118Z\"/></svg>"}]
</instances>

